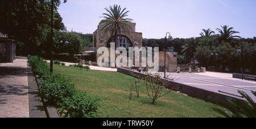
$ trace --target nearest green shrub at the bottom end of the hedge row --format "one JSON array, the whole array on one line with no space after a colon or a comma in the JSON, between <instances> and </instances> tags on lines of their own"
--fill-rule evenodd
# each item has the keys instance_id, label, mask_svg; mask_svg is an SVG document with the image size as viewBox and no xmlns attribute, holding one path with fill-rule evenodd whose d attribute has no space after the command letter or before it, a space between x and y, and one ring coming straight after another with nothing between
<instances>
[{"instance_id":1,"label":"nearest green shrub at the bottom end of the hedge row","mask_svg":"<svg viewBox=\"0 0 256 129\"><path fill-rule=\"evenodd\" d=\"M72 97L63 98L59 114L68 118L92 118L97 117L98 99L92 99L85 93L75 93Z\"/></svg>"}]
</instances>

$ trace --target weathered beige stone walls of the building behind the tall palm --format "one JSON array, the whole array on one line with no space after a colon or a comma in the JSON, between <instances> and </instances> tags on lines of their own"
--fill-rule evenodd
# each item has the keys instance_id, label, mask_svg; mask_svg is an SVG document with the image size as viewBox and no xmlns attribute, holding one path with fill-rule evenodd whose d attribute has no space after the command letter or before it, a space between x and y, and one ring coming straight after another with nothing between
<instances>
[{"instance_id":1,"label":"weathered beige stone walls of the building behind the tall palm","mask_svg":"<svg viewBox=\"0 0 256 129\"><path fill-rule=\"evenodd\" d=\"M125 47L127 50L129 47L138 47L141 48L142 45L142 33L141 32L136 32L136 23L130 23L131 25L131 32L130 33L121 33L121 37L117 37L117 47ZM110 42L115 42L114 37L111 37L111 32L105 32L102 30L103 24L100 23L98 25L98 28L96 31L93 33L93 48L91 48L92 51L95 51L97 53L98 48L100 47L107 47L109 48L110 52ZM112 40L112 41L111 41ZM100 57L101 54L96 54L96 58ZM177 58L176 58L177 53L171 53L167 52L166 53L166 70L168 72L174 72L176 71L177 67ZM110 56L110 53L109 53ZM117 58L117 54L115 55L115 58ZM96 59L96 61L97 61ZM164 71L164 53L163 51L159 52L159 71ZM109 57L110 61L110 57ZM127 61L128 62L128 61ZM110 67L113 67L110 62L105 62L108 63ZM140 66L141 66L141 62ZM134 64L135 65L135 64Z\"/></svg>"}]
</instances>

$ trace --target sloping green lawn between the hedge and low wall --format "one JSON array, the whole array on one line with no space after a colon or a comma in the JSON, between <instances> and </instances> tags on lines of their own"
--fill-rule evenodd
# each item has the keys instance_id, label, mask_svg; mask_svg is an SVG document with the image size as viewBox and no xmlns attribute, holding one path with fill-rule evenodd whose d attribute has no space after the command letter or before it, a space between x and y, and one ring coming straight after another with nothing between
<instances>
[{"instance_id":1,"label":"sloping green lawn between the hedge and low wall","mask_svg":"<svg viewBox=\"0 0 256 129\"><path fill-rule=\"evenodd\" d=\"M146 91L128 100L127 83L133 82L131 76L118 72L80 70L79 68L54 65L54 72L71 78L75 88L92 97L100 98L98 117L220 117L212 108L217 105L182 93L171 92L167 96L151 100ZM144 88L141 88L142 90Z\"/></svg>"}]
</instances>

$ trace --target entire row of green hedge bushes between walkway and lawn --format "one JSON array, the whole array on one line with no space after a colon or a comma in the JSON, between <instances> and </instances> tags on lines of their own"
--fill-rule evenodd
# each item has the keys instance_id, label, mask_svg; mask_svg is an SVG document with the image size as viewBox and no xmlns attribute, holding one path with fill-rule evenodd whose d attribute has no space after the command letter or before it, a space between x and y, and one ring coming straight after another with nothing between
<instances>
[{"instance_id":1,"label":"entire row of green hedge bushes between walkway and lawn","mask_svg":"<svg viewBox=\"0 0 256 129\"><path fill-rule=\"evenodd\" d=\"M98 99L77 92L70 79L49 72L43 58L32 56L28 59L34 73L39 75L39 96L46 98L47 104L59 109L60 117L97 117Z\"/></svg>"}]
</instances>

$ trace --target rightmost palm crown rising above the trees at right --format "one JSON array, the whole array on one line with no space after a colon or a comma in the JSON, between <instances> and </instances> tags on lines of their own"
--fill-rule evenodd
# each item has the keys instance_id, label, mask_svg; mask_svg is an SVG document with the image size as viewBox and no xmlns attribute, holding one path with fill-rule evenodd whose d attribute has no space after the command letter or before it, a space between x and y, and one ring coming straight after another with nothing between
<instances>
[{"instance_id":1,"label":"rightmost palm crown rising above the trees at right","mask_svg":"<svg viewBox=\"0 0 256 129\"><path fill-rule=\"evenodd\" d=\"M235 38L241 38L240 36L233 36L237 31L232 31L234 28L228 25L221 26L222 29L217 28L216 30L220 33L218 34L221 41L231 42Z\"/></svg>"}]
</instances>

